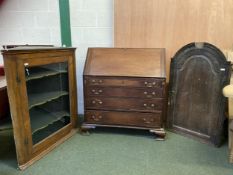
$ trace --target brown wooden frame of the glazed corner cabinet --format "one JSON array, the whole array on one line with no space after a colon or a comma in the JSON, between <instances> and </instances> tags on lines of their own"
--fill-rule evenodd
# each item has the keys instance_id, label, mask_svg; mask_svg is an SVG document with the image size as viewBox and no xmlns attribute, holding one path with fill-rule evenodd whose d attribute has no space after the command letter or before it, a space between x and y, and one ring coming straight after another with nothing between
<instances>
[{"instance_id":1,"label":"brown wooden frame of the glazed corner cabinet","mask_svg":"<svg viewBox=\"0 0 233 175\"><path fill-rule=\"evenodd\" d=\"M8 87L7 90L8 90L9 103L10 103L10 112L12 117L17 160L20 169L27 168L29 165L34 163L36 160L42 158L42 156L50 152L53 148L58 146L60 143L64 142L68 137L70 137L76 132L76 126L77 126L76 89L77 88L76 88L74 52L75 52L75 48L33 49L32 47L29 47L28 49L17 48L17 49L2 51L7 87ZM39 142L34 142L33 140L33 138L35 138L34 133L32 134L33 117L32 117L32 113L30 112L31 110L29 110L30 104L31 107L33 106L32 104L35 104L40 107L41 105L45 105L45 104L47 105L50 104L55 106L57 105L57 103L55 103L54 101L56 99L55 97L59 97L59 96L57 96L56 93L55 96L53 96L52 98L50 98L51 96L49 98L44 98L43 96L44 92L46 91L50 91L50 92L56 91L52 89L51 86L49 86L49 84L55 87L57 86L57 84L51 83L52 81L46 83L50 76L53 76L54 78L55 75L49 74L49 77L39 76L37 77L38 78L37 80L31 81L27 79L28 75L25 74L25 70L26 69L32 70L35 66L36 67L41 67L45 65L48 66L50 64L55 64L55 63L59 63L60 66L62 63L66 63L68 65L67 80L69 83L68 86L69 90L66 89L65 91L69 91L68 111L70 112L71 121L69 122L69 124L63 123L64 125L61 129L59 129L59 127L55 127L58 128L59 130L55 130L55 129L51 130L52 132L49 132L50 135L47 136L46 138L43 137L43 140L40 140ZM25 68L26 65L27 67ZM56 74L56 76L58 75L59 74ZM60 80L61 77L58 77L58 79ZM61 81L58 81L58 83L61 83ZM30 88L28 88L29 84L30 84ZM41 84L41 86L39 86L38 84ZM34 87L32 87L32 85L34 85ZM42 86L43 88L41 88ZM49 88L51 89L48 90ZM34 101L35 103L34 102L31 103L30 98L33 92L35 94L40 93L40 100L41 97L43 97L44 98L43 102L40 100L36 100ZM56 109L56 111L53 112L59 112L63 109L59 105L57 107L60 110ZM52 110L52 107L50 107L50 110ZM53 125L54 123L46 123L46 124L47 126L49 126L49 125ZM40 127L37 129L41 129L41 128L44 127ZM43 135L42 132L41 134Z\"/></svg>"}]
</instances>

